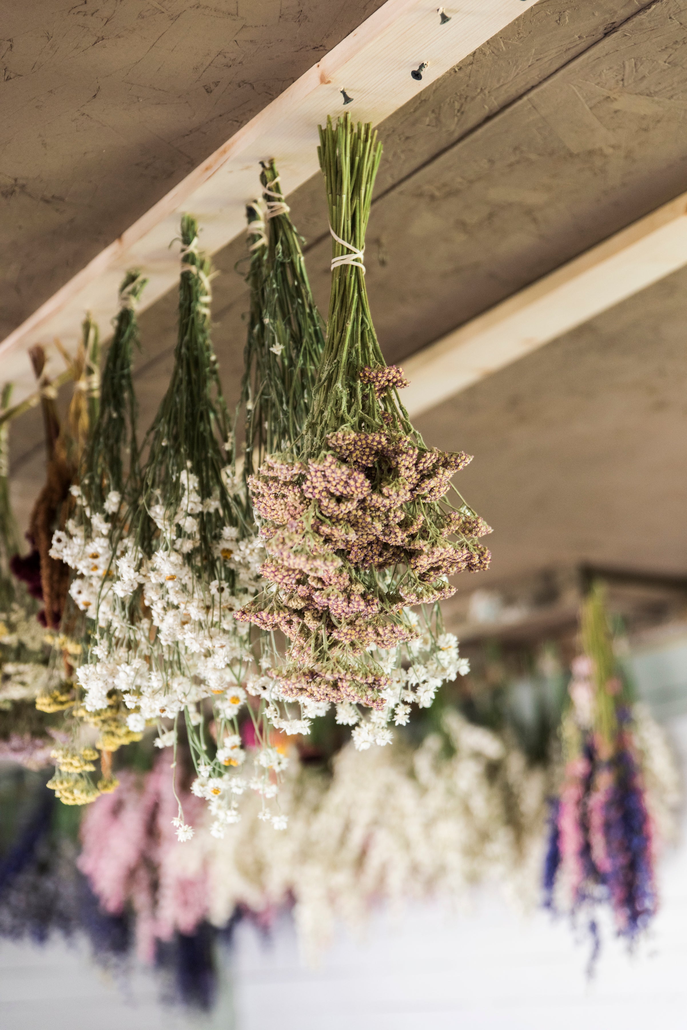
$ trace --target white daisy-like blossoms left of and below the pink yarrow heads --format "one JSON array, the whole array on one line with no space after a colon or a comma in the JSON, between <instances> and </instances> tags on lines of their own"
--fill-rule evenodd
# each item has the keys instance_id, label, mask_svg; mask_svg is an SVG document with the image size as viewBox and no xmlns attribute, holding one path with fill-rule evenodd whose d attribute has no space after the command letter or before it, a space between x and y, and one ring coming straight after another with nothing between
<instances>
[{"instance_id":1,"label":"white daisy-like blossoms left of and below the pink yarrow heads","mask_svg":"<svg viewBox=\"0 0 687 1030\"><path fill-rule=\"evenodd\" d=\"M92 513L73 488L77 511L66 529L56 533L51 554L75 570L71 596L95 620L91 655L76 671L83 705L89 713L102 712L116 691L129 713L125 728L138 734L156 722L159 748L177 741L176 727L161 720L183 715L198 774L193 791L208 801L213 834L222 836L240 818L240 798L247 791L259 795L262 821L284 828L287 820L277 797L287 759L280 742L310 733L313 720L331 706L281 695L278 681L267 675L281 660L272 637L257 634L256 641L255 630L251 636L249 624L233 618L264 585L259 537L242 540L236 526L215 519L215 561L208 570L198 558L198 516L218 512L220 504L217 497L200 495L190 469L180 478L176 511L170 512L161 499L150 507L157 534L149 557L122 531L118 493L108 495L102 513ZM137 591L142 604L133 603ZM406 615L415 623L418 638L374 652L392 679L385 708L336 708L336 721L354 727L358 750L391 743L392 725L408 721L412 703L429 707L442 682L468 672L451 633L434 631L431 620L421 623L409 610ZM210 747L207 698L213 710ZM248 716L249 747L242 741L239 716ZM180 819L178 836L185 840L191 831L181 814Z\"/></svg>"}]
</instances>

